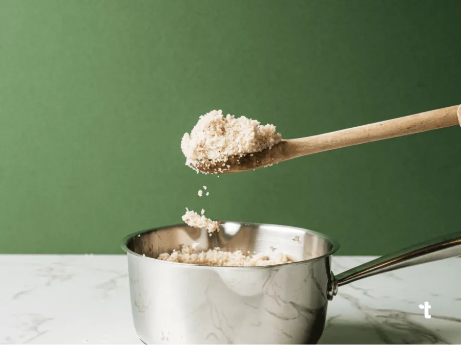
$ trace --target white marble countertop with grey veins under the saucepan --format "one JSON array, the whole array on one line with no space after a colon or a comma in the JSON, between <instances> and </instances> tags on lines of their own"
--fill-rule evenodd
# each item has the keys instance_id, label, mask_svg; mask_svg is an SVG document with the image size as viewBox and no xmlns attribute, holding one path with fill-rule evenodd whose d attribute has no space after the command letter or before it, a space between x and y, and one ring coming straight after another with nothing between
<instances>
[{"instance_id":1,"label":"white marble countertop with grey veins under the saucepan","mask_svg":"<svg viewBox=\"0 0 461 345\"><path fill-rule=\"evenodd\" d=\"M333 272L372 259L336 256ZM0 255L0 343L141 344L127 266L124 255ZM320 343L461 343L459 273L453 258L342 286Z\"/></svg>"}]
</instances>

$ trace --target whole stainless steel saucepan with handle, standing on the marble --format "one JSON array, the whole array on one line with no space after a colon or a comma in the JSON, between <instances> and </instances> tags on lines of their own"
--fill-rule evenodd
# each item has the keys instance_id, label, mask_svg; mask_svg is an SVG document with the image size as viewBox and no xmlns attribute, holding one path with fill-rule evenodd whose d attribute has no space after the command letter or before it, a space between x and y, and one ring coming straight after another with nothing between
<instances>
[{"instance_id":1,"label":"whole stainless steel saucepan with handle, standing on the marble","mask_svg":"<svg viewBox=\"0 0 461 345\"><path fill-rule=\"evenodd\" d=\"M144 343L317 343L325 326L328 301L338 287L396 268L461 255L461 233L457 233L334 275L331 257L339 245L328 236L281 225L220 225L220 232L212 237L204 229L175 225L123 239L134 326ZM300 242L294 241L296 236ZM269 256L284 252L301 261L221 267L154 259L161 252L193 242L199 243L198 250L220 247ZM277 248L275 252L270 246Z\"/></svg>"}]
</instances>

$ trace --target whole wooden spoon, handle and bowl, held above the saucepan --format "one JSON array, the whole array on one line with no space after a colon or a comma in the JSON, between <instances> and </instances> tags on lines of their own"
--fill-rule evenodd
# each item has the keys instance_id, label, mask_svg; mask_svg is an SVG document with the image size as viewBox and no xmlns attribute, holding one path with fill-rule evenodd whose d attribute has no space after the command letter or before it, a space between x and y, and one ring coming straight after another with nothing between
<instances>
[{"instance_id":1,"label":"whole wooden spoon, handle and bowl, held above the saucepan","mask_svg":"<svg viewBox=\"0 0 461 345\"><path fill-rule=\"evenodd\" d=\"M299 139L282 140L271 149L247 154L243 157L229 157L225 165L230 166L230 168L223 167L222 163L215 165L211 162L192 166L192 168L198 169L203 173L236 173L270 166L284 160L312 153L461 125L461 109L459 108L461 108L461 105L454 105L330 133Z\"/></svg>"}]
</instances>

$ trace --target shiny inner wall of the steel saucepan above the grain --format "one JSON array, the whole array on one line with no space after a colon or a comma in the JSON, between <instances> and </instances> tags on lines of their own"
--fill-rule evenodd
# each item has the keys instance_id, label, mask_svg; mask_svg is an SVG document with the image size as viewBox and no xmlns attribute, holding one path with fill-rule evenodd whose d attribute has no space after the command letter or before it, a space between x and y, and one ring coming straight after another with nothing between
<instances>
[{"instance_id":1,"label":"shiny inner wall of the steel saucepan above the grain","mask_svg":"<svg viewBox=\"0 0 461 345\"><path fill-rule=\"evenodd\" d=\"M239 222L220 222L220 231L212 236L206 229L187 225L151 229L126 237L122 247L132 254L157 258L162 252L171 253L194 242L198 243L196 250L219 247L226 251L257 252L270 258L283 252L296 261L331 255L339 248L327 236L303 228Z\"/></svg>"}]
</instances>

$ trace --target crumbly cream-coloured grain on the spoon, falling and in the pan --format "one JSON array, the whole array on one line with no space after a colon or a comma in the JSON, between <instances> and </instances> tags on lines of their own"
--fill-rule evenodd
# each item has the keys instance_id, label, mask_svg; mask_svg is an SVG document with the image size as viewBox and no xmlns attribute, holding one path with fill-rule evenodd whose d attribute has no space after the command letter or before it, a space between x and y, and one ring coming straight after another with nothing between
<instances>
[{"instance_id":1,"label":"crumbly cream-coloured grain on the spoon, falling and in the pan","mask_svg":"<svg viewBox=\"0 0 461 345\"><path fill-rule=\"evenodd\" d=\"M224 117L221 110L213 110L200 116L191 134L184 134L181 150L186 157L186 165L195 169L197 173L199 164L219 163L219 167L214 169L214 173L218 174L230 168L225 164L229 157L253 155L254 152L272 148L281 140L282 136L276 133L274 125L262 126L259 121L244 116L236 119L234 115L228 114ZM201 197L206 189L207 187L203 186L203 190L197 192L198 196ZM208 196L209 192L207 191L205 195ZM203 209L199 215L186 208L182 220L189 226L206 229L209 236L212 236L214 232L219 231L219 224L206 218L204 214ZM237 267L277 265L294 261L283 253L270 258L265 254L248 252L245 255L241 250L231 252L220 248L196 251L197 245L198 243L192 246L183 245L181 250L173 250L171 254L164 252L158 259L186 264ZM271 251L276 249L270 246Z\"/></svg>"}]
</instances>

